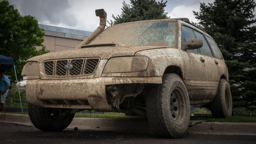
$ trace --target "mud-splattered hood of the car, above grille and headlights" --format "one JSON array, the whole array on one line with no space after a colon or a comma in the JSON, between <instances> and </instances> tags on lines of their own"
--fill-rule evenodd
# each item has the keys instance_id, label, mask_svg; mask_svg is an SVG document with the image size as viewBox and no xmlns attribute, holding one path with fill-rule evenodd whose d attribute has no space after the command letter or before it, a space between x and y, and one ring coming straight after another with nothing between
<instances>
[{"instance_id":1,"label":"mud-splattered hood of the car, above grille and headlights","mask_svg":"<svg viewBox=\"0 0 256 144\"><path fill-rule=\"evenodd\" d=\"M104 47L89 47L82 49L72 49L53 53L47 53L40 56L35 56L27 61L43 62L50 59L65 59L65 58L80 58L80 57L100 57L101 59L109 59L115 56L132 56L138 51L163 48L163 46L104 46Z\"/></svg>"}]
</instances>

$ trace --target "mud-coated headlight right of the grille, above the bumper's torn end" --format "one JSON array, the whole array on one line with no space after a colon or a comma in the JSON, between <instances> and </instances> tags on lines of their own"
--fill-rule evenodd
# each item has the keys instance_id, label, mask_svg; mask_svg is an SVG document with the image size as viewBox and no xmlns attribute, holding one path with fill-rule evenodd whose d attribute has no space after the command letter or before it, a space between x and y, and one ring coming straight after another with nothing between
<instances>
[{"instance_id":1,"label":"mud-coated headlight right of the grille, above the bumper's torn end","mask_svg":"<svg viewBox=\"0 0 256 144\"><path fill-rule=\"evenodd\" d=\"M114 57L108 60L103 73L140 72L148 67L148 57Z\"/></svg>"}]
</instances>

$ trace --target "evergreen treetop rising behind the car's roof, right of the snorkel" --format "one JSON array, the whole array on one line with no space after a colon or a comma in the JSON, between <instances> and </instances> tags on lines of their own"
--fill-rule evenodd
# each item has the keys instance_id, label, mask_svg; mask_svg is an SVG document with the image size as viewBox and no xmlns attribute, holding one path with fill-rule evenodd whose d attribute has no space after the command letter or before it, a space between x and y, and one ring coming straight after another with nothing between
<instances>
[{"instance_id":1,"label":"evergreen treetop rising behind the car's roof, right of the snorkel","mask_svg":"<svg viewBox=\"0 0 256 144\"><path fill-rule=\"evenodd\" d=\"M115 17L112 15L114 22L110 20L108 23L112 26L115 24L153 20L167 19L167 13L164 12L166 2L156 2L156 0L131 0L131 6L123 2L122 14Z\"/></svg>"}]
</instances>

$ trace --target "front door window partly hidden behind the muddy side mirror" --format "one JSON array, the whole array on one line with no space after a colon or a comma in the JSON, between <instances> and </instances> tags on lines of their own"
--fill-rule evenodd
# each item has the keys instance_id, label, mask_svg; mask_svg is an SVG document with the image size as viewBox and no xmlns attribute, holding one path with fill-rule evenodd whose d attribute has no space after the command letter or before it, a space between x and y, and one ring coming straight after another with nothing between
<instances>
[{"instance_id":1,"label":"front door window partly hidden behind the muddy side mirror","mask_svg":"<svg viewBox=\"0 0 256 144\"><path fill-rule=\"evenodd\" d=\"M188 39L195 39L195 34L193 30L189 27L182 26L182 49L184 48L184 44L187 42ZM195 53L200 53L199 49L194 49L194 50L187 50L190 52L195 52Z\"/></svg>"}]
</instances>

